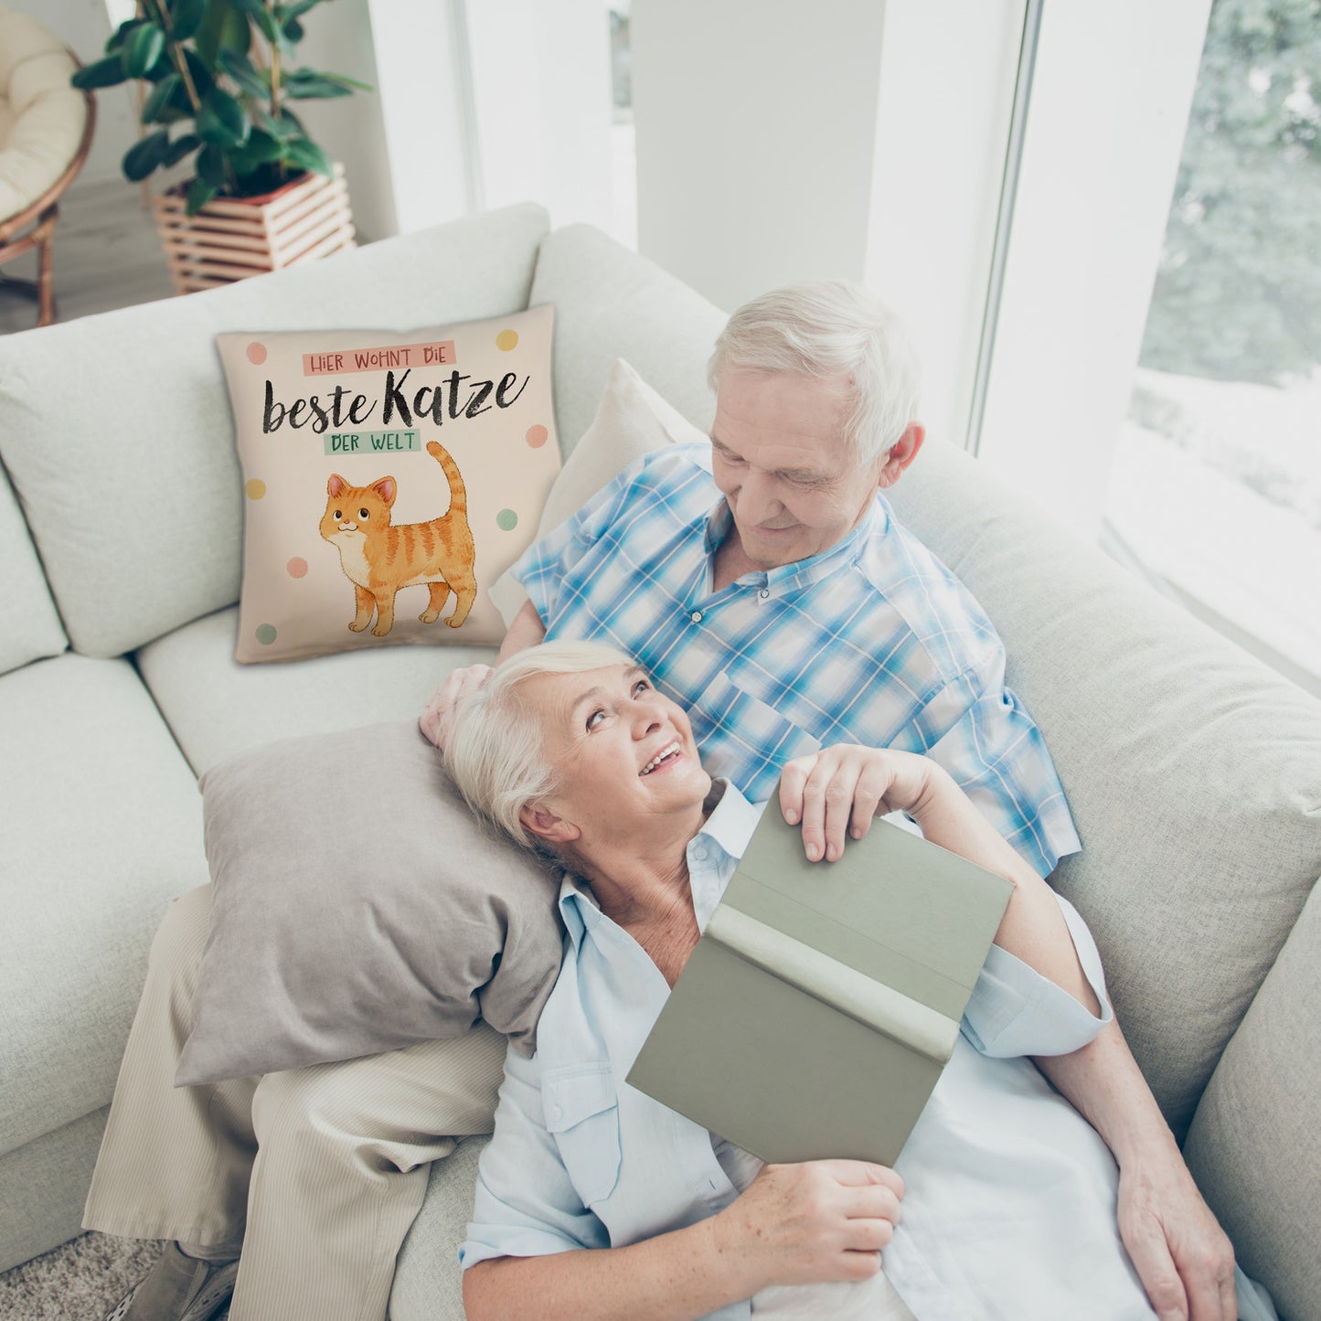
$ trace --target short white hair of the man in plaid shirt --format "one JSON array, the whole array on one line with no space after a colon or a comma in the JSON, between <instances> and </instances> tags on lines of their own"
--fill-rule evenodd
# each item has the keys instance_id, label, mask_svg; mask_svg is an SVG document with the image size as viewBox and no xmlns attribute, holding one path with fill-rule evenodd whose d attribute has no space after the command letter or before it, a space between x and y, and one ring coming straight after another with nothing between
<instances>
[{"instance_id":1,"label":"short white hair of the man in plaid shirt","mask_svg":"<svg viewBox=\"0 0 1321 1321\"><path fill-rule=\"evenodd\" d=\"M847 382L844 440L857 464L880 458L917 417L919 373L904 322L865 289L822 280L771 289L729 318L707 366Z\"/></svg>"}]
</instances>

